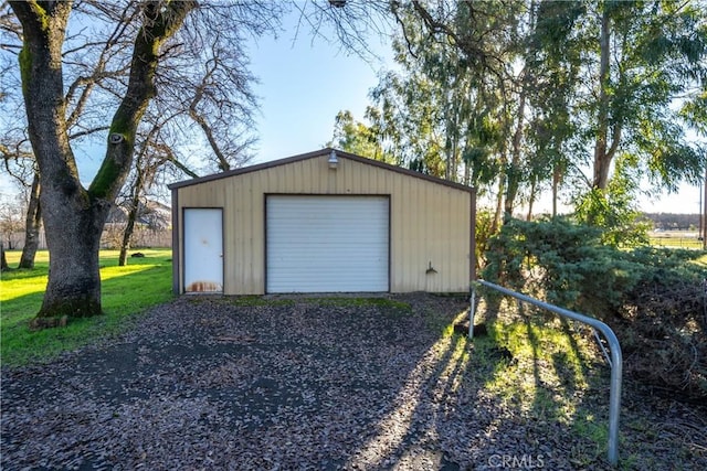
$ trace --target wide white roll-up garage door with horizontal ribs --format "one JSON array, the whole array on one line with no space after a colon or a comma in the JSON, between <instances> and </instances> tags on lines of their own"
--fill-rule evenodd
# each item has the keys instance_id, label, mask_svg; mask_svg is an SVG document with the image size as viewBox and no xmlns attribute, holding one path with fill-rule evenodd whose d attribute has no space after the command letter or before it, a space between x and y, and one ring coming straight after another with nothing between
<instances>
[{"instance_id":1,"label":"wide white roll-up garage door with horizontal ribs","mask_svg":"<svg viewBox=\"0 0 707 471\"><path fill-rule=\"evenodd\" d=\"M268 195L267 292L388 291L387 196Z\"/></svg>"}]
</instances>

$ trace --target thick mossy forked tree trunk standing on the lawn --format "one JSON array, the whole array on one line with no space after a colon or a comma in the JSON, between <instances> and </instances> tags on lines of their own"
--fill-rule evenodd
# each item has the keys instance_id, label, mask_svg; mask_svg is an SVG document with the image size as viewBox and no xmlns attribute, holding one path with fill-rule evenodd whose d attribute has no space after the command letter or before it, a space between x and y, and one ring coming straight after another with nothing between
<instances>
[{"instance_id":1,"label":"thick mossy forked tree trunk standing on the lawn","mask_svg":"<svg viewBox=\"0 0 707 471\"><path fill-rule=\"evenodd\" d=\"M19 55L28 130L40 169L50 271L38 318L102 313L98 249L115 195L133 163L135 133L155 95L159 44L181 25L193 2L145 2L127 90L110 124L106 156L88 190L78 179L66 129L62 69L71 2L12 1L22 23Z\"/></svg>"}]
</instances>

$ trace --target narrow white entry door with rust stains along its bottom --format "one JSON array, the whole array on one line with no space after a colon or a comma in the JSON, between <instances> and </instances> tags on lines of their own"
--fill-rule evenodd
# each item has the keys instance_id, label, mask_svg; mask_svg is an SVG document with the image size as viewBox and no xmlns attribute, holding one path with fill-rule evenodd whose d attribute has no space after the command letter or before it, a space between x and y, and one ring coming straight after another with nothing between
<instances>
[{"instance_id":1,"label":"narrow white entry door with rust stains along its bottom","mask_svg":"<svg viewBox=\"0 0 707 471\"><path fill-rule=\"evenodd\" d=\"M186 208L184 292L223 292L223 210Z\"/></svg>"}]
</instances>

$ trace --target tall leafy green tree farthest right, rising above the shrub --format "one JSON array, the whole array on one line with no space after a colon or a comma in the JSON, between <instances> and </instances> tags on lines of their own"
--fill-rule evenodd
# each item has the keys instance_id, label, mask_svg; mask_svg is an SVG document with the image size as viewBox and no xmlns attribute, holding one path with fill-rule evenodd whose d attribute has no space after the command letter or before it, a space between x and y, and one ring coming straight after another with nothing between
<instances>
[{"instance_id":1,"label":"tall leafy green tree farthest right, rising above the shrub","mask_svg":"<svg viewBox=\"0 0 707 471\"><path fill-rule=\"evenodd\" d=\"M659 186L674 189L699 172L675 101L707 74L706 21L701 1L603 1L588 9L581 33L598 54L585 75L594 86L584 115L594 141L592 188L608 188L620 152L637 157Z\"/></svg>"}]
</instances>

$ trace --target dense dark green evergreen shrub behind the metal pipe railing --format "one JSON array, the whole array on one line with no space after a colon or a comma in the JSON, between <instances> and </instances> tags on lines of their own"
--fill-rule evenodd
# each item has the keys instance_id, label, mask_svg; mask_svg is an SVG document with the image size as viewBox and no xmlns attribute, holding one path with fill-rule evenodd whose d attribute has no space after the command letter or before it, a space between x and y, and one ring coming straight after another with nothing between
<instances>
[{"instance_id":1,"label":"dense dark green evergreen shrub behind the metal pipe railing","mask_svg":"<svg viewBox=\"0 0 707 471\"><path fill-rule=\"evenodd\" d=\"M602 240L601 228L570 217L511 220L489 239L482 278L604 321L626 374L707 399L707 272L694 263L703 253Z\"/></svg>"}]
</instances>

